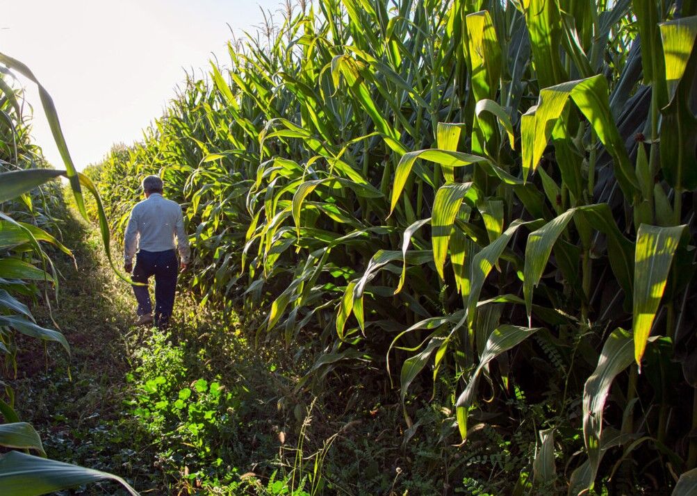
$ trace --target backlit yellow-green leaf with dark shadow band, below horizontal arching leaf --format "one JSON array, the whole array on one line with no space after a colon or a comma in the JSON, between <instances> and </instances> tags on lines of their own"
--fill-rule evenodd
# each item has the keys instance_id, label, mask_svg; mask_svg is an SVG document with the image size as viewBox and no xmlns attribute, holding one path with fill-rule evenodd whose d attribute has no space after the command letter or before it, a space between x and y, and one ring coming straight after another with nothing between
<instances>
[{"instance_id":1,"label":"backlit yellow-green leaf with dark shadow band, below horizontal arching leaf","mask_svg":"<svg viewBox=\"0 0 697 496\"><path fill-rule=\"evenodd\" d=\"M431 241L434 247L434 263L441 279L445 278L443 266L450 245L450 233L455 215L470 192L472 183L448 183L438 188L434 200L433 217L431 219Z\"/></svg>"}]
</instances>

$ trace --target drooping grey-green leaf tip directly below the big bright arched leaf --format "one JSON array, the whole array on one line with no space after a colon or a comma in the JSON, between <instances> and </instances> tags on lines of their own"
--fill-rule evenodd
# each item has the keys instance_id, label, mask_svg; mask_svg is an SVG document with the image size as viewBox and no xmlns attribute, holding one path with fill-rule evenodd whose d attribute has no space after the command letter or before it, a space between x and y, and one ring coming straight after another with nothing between
<instances>
[{"instance_id":1,"label":"drooping grey-green leaf tip directly below the big bright arched leaf","mask_svg":"<svg viewBox=\"0 0 697 496\"><path fill-rule=\"evenodd\" d=\"M525 268L523 269L523 294L525 295L528 319L533 313L533 288L539 284L542 278L552 247L559 235L566 229L569 221L574 217L575 210L567 210L555 219L551 220L537 231L528 235L528 244L525 248Z\"/></svg>"}]
</instances>

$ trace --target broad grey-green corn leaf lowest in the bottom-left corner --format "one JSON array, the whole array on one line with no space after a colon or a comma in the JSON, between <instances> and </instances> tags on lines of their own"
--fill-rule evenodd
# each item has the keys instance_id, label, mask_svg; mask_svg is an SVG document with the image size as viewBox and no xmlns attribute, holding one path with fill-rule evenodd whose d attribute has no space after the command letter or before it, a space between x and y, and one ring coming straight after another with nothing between
<instances>
[{"instance_id":1,"label":"broad grey-green corn leaf lowest in the bottom-left corner","mask_svg":"<svg viewBox=\"0 0 697 496\"><path fill-rule=\"evenodd\" d=\"M38 496L105 479L120 483L132 496L138 496L136 490L121 477L107 472L26 455L19 451L0 455L0 486L8 495Z\"/></svg>"}]
</instances>

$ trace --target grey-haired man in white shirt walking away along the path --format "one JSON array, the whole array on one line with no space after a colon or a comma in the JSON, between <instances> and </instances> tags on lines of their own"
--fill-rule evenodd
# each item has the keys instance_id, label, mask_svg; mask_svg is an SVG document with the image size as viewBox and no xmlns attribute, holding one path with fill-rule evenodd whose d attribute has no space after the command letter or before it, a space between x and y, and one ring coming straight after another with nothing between
<instances>
[{"instance_id":1,"label":"grey-haired man in white shirt walking away along the path","mask_svg":"<svg viewBox=\"0 0 697 496\"><path fill-rule=\"evenodd\" d=\"M174 236L177 238L180 268L189 265L189 240L184 231L184 219L178 203L162 197L162 180L148 176L143 180L145 199L131 211L123 241L123 268L135 282L133 286L138 302L136 325L153 322L153 307L148 293L148 278L155 276L155 325L167 327L174 308L174 290L177 279L177 260ZM135 269L133 256L138 251Z\"/></svg>"}]
</instances>

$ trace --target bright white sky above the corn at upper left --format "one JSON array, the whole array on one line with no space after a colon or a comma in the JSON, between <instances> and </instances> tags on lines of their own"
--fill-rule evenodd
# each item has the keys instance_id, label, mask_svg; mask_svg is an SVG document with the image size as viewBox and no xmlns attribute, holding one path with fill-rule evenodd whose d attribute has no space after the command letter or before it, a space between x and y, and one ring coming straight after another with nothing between
<instances>
[{"instance_id":1,"label":"bright white sky above the corn at upper left","mask_svg":"<svg viewBox=\"0 0 697 496\"><path fill-rule=\"evenodd\" d=\"M231 31L256 32L260 8L279 20L282 0L22 0L3 2L0 52L19 59L51 94L77 169L112 144L131 144L162 111L186 69L227 63ZM228 24L230 26L228 26ZM33 83L33 137L63 162Z\"/></svg>"}]
</instances>

